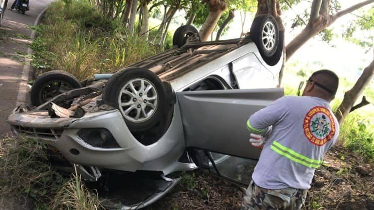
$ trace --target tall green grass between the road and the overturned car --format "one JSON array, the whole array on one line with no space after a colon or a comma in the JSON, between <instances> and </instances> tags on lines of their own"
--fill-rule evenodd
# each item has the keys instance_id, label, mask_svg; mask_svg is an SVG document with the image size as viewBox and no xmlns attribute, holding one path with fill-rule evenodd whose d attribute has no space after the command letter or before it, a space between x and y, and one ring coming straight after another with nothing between
<instances>
[{"instance_id":1,"label":"tall green grass between the road and the overturned car","mask_svg":"<svg viewBox=\"0 0 374 210\"><path fill-rule=\"evenodd\" d=\"M37 74L58 69L79 80L113 72L162 49L127 34L121 22L101 16L83 0L52 2L31 44Z\"/></svg>"}]
</instances>

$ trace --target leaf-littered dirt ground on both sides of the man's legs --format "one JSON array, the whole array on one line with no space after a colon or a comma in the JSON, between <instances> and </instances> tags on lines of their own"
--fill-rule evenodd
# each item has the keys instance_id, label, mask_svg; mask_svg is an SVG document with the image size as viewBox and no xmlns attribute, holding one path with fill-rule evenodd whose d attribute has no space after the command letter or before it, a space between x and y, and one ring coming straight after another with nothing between
<instances>
[{"instance_id":1,"label":"leaf-littered dirt ground on both sides of the man's legs","mask_svg":"<svg viewBox=\"0 0 374 210\"><path fill-rule=\"evenodd\" d=\"M373 163L343 147L328 152L324 166L316 170L312 188L303 209L306 210L373 210ZM148 210L234 210L240 209L243 189L201 170L194 173L193 189L180 183L166 197Z\"/></svg>"}]
</instances>

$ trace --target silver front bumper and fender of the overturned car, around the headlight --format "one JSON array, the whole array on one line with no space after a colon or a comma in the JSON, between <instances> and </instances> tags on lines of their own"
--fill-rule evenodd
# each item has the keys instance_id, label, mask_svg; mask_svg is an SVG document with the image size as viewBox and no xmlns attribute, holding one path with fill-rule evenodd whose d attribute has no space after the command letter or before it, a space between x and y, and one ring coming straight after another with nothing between
<instances>
[{"instance_id":1,"label":"silver front bumper and fender of the overturned car, around the headlight","mask_svg":"<svg viewBox=\"0 0 374 210\"><path fill-rule=\"evenodd\" d=\"M81 118L51 118L47 111L14 110L8 123L17 134L43 141L55 148L71 163L98 168L135 172L137 170L193 170L194 164L180 163L185 151L182 120L178 104L171 126L156 143L145 146L130 132L119 110L86 113ZM78 136L85 128L105 128L117 141L118 148L94 147ZM27 132L25 132L25 130Z\"/></svg>"}]
</instances>

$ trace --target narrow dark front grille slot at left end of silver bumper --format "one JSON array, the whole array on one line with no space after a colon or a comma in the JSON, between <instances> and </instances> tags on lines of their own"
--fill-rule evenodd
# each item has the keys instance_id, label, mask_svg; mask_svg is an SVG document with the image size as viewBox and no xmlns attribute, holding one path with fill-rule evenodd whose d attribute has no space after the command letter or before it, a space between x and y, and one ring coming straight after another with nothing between
<instances>
[{"instance_id":1,"label":"narrow dark front grille slot at left end of silver bumper","mask_svg":"<svg viewBox=\"0 0 374 210\"><path fill-rule=\"evenodd\" d=\"M24 134L29 137L37 137L50 140L58 139L64 131L61 128L35 128L23 127L18 125L13 125L13 128L18 134Z\"/></svg>"}]
</instances>

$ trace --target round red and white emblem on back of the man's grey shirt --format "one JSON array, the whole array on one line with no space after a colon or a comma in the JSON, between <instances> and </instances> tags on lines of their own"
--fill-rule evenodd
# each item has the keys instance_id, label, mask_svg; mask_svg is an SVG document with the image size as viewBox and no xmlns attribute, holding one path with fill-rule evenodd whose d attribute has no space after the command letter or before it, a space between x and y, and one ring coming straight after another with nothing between
<instances>
[{"instance_id":1,"label":"round red and white emblem on back of the man's grey shirt","mask_svg":"<svg viewBox=\"0 0 374 210\"><path fill-rule=\"evenodd\" d=\"M333 115L329 109L315 106L305 115L303 128L305 137L310 142L322 146L330 141L335 134Z\"/></svg>"}]
</instances>

